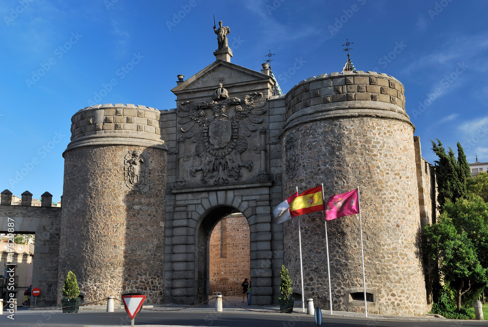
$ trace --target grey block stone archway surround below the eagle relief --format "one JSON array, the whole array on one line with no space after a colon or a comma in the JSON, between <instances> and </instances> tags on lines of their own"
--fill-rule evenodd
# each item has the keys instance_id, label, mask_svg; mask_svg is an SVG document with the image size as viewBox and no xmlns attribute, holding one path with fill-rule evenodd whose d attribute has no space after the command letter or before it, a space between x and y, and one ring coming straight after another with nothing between
<instances>
[{"instance_id":1,"label":"grey block stone archway surround below the eagle relief","mask_svg":"<svg viewBox=\"0 0 488 327\"><path fill-rule=\"evenodd\" d=\"M249 224L253 304L269 305L279 295L283 264L281 225L272 224L266 184L173 190L165 221L164 302L195 305L209 294L209 240L225 216L242 213ZM242 283L242 282L241 282ZM256 295L256 297L254 297Z\"/></svg>"}]
</instances>

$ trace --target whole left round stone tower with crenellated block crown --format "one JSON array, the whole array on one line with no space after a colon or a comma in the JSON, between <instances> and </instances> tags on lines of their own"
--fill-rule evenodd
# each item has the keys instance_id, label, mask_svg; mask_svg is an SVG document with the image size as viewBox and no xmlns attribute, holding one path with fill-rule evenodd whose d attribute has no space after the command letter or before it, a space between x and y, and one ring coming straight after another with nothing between
<instances>
[{"instance_id":1,"label":"whole left round stone tower with crenellated block crown","mask_svg":"<svg viewBox=\"0 0 488 327\"><path fill-rule=\"evenodd\" d=\"M58 301L72 270L85 303L139 289L146 303L161 302L167 148L160 111L97 105L71 121L63 153Z\"/></svg>"}]
</instances>

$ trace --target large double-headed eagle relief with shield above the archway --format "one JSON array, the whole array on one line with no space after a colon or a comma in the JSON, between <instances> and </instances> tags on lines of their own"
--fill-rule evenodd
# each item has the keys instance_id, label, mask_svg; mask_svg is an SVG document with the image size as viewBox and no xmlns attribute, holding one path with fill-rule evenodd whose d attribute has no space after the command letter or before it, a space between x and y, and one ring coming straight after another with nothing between
<instances>
[{"instance_id":1,"label":"large double-headed eagle relief with shield above the archway","mask_svg":"<svg viewBox=\"0 0 488 327\"><path fill-rule=\"evenodd\" d=\"M243 162L241 154L248 150L248 138L257 131L256 125L263 122L260 116L265 104L263 93L229 97L222 84L210 102L182 103L177 110L178 123L186 139L195 144L194 159L199 159L190 168L191 174L201 171L203 184L223 185L231 179L240 180L243 168L251 171L252 161Z\"/></svg>"}]
</instances>

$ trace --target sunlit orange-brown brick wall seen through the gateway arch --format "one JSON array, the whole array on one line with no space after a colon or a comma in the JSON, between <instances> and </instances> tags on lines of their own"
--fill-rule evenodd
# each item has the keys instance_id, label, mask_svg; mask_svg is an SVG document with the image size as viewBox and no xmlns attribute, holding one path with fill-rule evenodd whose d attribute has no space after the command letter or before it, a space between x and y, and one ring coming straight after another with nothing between
<instances>
[{"instance_id":1,"label":"sunlit orange-brown brick wall seen through the gateway arch","mask_svg":"<svg viewBox=\"0 0 488 327\"><path fill-rule=\"evenodd\" d=\"M223 218L210 236L210 290L241 296L244 278L250 278L249 225L243 215Z\"/></svg>"}]
</instances>

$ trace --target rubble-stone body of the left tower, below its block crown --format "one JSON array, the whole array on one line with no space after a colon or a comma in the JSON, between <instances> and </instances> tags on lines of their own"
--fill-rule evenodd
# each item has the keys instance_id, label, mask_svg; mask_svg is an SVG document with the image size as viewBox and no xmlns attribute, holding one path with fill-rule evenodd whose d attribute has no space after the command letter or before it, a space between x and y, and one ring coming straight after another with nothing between
<instances>
[{"instance_id":1,"label":"rubble-stone body of the left tower, below its block crown","mask_svg":"<svg viewBox=\"0 0 488 327\"><path fill-rule=\"evenodd\" d=\"M147 155L149 189L124 189L124 156ZM141 289L163 299L166 152L136 146L82 147L64 153L59 292L69 270L85 303ZM59 299L60 299L59 298ZM103 302L102 302L103 303Z\"/></svg>"}]
</instances>

